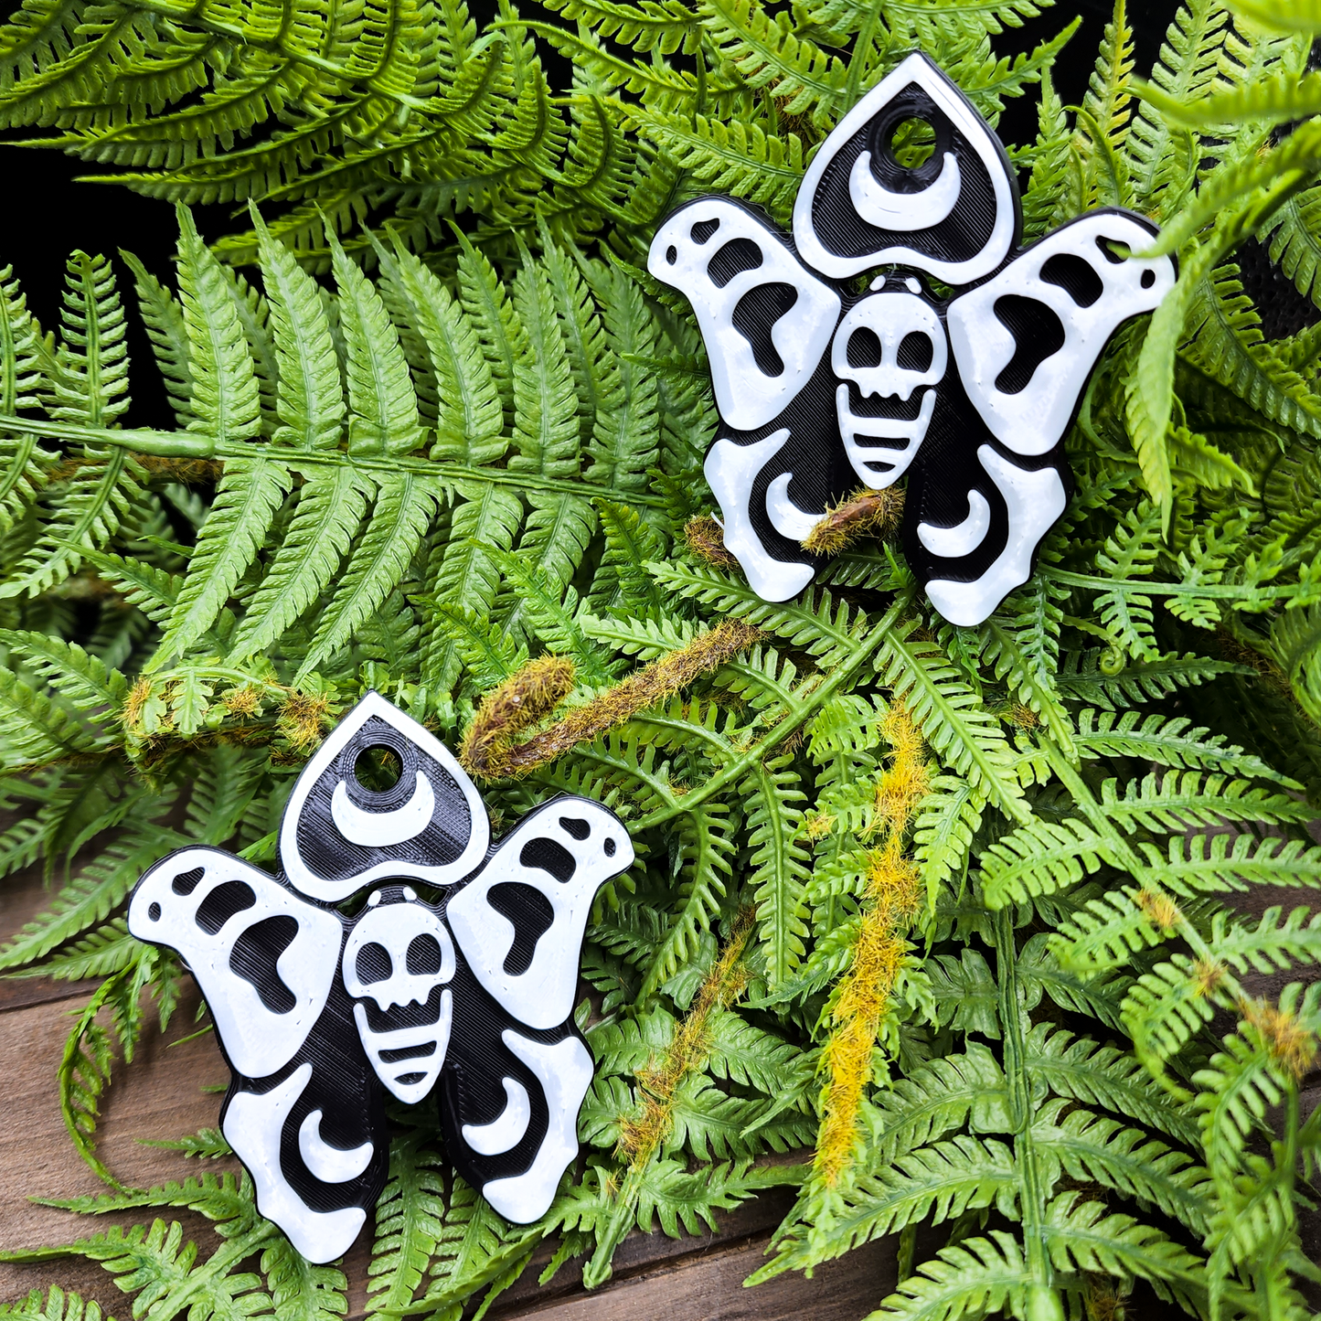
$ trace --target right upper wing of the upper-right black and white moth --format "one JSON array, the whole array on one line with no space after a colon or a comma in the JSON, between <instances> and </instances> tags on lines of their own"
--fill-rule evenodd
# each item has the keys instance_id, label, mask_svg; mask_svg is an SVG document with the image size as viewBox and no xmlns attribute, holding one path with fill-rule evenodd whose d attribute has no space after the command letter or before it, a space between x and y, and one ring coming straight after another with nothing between
<instances>
[{"instance_id":1,"label":"right upper wing of the upper-right black and white moth","mask_svg":"<svg viewBox=\"0 0 1321 1321\"><path fill-rule=\"evenodd\" d=\"M1168 256L1140 251L1156 226L1128 211L1092 211L1020 252L947 312L950 346L972 406L1016 454L1045 454L1073 420L1111 336L1174 285Z\"/></svg>"}]
</instances>

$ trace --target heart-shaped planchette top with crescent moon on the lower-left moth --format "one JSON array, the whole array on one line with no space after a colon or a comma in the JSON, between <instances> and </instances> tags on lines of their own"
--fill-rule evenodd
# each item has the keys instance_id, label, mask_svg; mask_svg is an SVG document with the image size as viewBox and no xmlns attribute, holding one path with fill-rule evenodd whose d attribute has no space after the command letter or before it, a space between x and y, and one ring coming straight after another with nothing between
<instances>
[{"instance_id":1,"label":"heart-shaped planchette top with crescent moon on the lower-left moth","mask_svg":"<svg viewBox=\"0 0 1321 1321\"><path fill-rule=\"evenodd\" d=\"M384 748L402 774L359 783L354 765ZM280 822L280 860L295 889L338 904L376 880L461 881L486 855L490 820L450 752L416 720L369 692L299 775Z\"/></svg>"}]
</instances>

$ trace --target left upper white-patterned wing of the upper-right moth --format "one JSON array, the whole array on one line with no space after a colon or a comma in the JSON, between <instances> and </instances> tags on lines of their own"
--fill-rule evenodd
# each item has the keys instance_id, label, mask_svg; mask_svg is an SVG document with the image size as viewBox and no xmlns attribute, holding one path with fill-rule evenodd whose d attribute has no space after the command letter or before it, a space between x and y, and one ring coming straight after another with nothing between
<instances>
[{"instance_id":1,"label":"left upper white-patterned wing of the upper-right moth","mask_svg":"<svg viewBox=\"0 0 1321 1321\"><path fill-rule=\"evenodd\" d=\"M725 427L757 431L798 398L839 321L840 296L778 230L725 197L668 215L647 256L692 304Z\"/></svg>"}]
</instances>

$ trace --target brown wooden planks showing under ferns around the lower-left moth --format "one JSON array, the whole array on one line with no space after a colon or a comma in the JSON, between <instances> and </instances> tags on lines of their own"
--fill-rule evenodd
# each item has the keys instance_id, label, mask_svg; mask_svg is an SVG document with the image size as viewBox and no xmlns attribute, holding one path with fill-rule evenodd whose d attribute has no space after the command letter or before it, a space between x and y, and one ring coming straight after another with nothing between
<instances>
[{"instance_id":1,"label":"brown wooden planks showing under ferns around the lower-left moth","mask_svg":"<svg viewBox=\"0 0 1321 1321\"><path fill-rule=\"evenodd\" d=\"M0 888L0 934L18 930L49 902L40 877L20 877ZM141 1213L99 1218L75 1217L42 1206L33 1197L63 1198L103 1192L82 1162L59 1114L57 1069L69 1033L70 1013L86 1005L98 983L53 983L44 978L0 979L0 1246L41 1247L133 1225ZM116 1065L98 1129L102 1159L135 1188L199 1173L196 1160L143 1145L144 1139L181 1137L214 1125L221 1096L211 1090L229 1081L229 1070L207 1033L196 1032L198 1004L189 983L169 1032L155 1030L155 1018L131 1066ZM238 1170L234 1160L207 1161L206 1169ZM786 1189L774 1189L720 1219L720 1230L697 1236L631 1234L614 1259L614 1275L587 1293L573 1263L546 1287L536 1284L553 1244L543 1244L532 1266L491 1309L501 1321L535 1314L544 1321L856 1321L872 1312L894 1287L894 1243L884 1239L816 1271L814 1279L781 1276L756 1289L742 1281L764 1262L770 1232L791 1203ZM201 1255L219 1244L210 1223L186 1211L170 1213ZM343 1262L349 1277L349 1318L366 1309L370 1232L365 1231ZM59 1284L95 1299L114 1316L131 1314L131 1300L100 1266L63 1258L32 1266L0 1263L0 1301L15 1301L29 1289Z\"/></svg>"}]
</instances>

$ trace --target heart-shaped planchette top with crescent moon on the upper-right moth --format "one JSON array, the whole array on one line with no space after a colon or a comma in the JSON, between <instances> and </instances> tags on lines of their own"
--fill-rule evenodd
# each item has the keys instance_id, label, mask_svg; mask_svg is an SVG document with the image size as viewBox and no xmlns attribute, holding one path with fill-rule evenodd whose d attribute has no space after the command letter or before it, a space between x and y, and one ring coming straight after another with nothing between
<instances>
[{"instance_id":1,"label":"heart-shaped planchette top with crescent moon on the upper-right moth","mask_svg":"<svg viewBox=\"0 0 1321 1321\"><path fill-rule=\"evenodd\" d=\"M935 151L915 168L896 128L923 120ZM1021 209L1000 140L962 91L915 53L831 131L794 202L803 260L843 280L876 266L913 266L947 284L989 275L1018 240Z\"/></svg>"}]
</instances>

